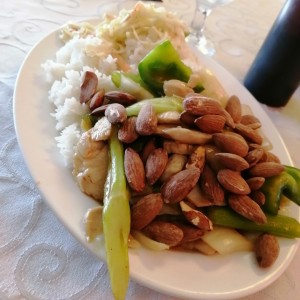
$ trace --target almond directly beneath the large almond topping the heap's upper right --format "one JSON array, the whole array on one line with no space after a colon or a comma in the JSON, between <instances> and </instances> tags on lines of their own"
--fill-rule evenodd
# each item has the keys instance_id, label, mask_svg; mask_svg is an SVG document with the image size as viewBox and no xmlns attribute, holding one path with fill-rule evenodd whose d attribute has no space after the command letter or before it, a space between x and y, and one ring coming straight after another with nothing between
<instances>
[{"instance_id":1,"label":"almond directly beneath the large almond topping the heap's upper right","mask_svg":"<svg viewBox=\"0 0 300 300\"><path fill-rule=\"evenodd\" d=\"M225 117L221 115L204 115L195 120L196 126L203 132L222 132L225 126Z\"/></svg>"}]
</instances>

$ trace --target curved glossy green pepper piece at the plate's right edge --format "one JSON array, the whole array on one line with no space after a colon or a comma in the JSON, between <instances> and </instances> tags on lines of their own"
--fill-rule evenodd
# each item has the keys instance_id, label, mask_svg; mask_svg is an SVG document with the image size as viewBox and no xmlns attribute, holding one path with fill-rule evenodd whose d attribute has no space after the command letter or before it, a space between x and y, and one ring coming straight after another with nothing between
<instances>
[{"instance_id":1,"label":"curved glossy green pepper piece at the plate's right edge","mask_svg":"<svg viewBox=\"0 0 300 300\"><path fill-rule=\"evenodd\" d=\"M282 195L300 205L300 170L285 166L285 170L279 175L266 178L260 190L266 197L262 208L272 215L278 213Z\"/></svg>"}]
</instances>

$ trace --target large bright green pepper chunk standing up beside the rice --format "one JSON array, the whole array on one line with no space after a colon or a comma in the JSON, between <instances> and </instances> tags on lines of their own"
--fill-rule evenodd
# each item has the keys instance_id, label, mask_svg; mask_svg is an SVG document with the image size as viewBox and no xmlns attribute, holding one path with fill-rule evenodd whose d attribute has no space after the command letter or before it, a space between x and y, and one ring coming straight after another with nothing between
<instances>
[{"instance_id":1,"label":"large bright green pepper chunk standing up beside the rice","mask_svg":"<svg viewBox=\"0 0 300 300\"><path fill-rule=\"evenodd\" d=\"M169 40L150 51L140 61L138 70L142 80L156 95L163 95L165 80L178 79L187 82L192 74L191 68L181 61Z\"/></svg>"}]
</instances>

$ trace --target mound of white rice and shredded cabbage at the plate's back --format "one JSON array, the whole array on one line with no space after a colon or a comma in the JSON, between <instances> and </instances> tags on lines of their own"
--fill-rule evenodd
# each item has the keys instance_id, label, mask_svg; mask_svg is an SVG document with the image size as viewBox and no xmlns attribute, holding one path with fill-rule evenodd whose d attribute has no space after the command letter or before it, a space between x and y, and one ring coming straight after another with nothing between
<instances>
[{"instance_id":1,"label":"mound of white rice and shredded cabbage at the plate's back","mask_svg":"<svg viewBox=\"0 0 300 300\"><path fill-rule=\"evenodd\" d=\"M88 106L79 101L85 71L95 72L98 89L116 90L110 78L118 69L115 57L121 56L131 71L137 72L139 61L166 39L171 40L186 64L194 66L196 60L185 43L186 34L186 25L175 15L142 3L133 13L121 11L100 26L69 24L62 29L62 40L67 41L42 68L50 84L49 101L55 106L51 115L56 120L56 142L66 166L72 167L74 148L82 134L81 118L89 112Z\"/></svg>"}]
</instances>

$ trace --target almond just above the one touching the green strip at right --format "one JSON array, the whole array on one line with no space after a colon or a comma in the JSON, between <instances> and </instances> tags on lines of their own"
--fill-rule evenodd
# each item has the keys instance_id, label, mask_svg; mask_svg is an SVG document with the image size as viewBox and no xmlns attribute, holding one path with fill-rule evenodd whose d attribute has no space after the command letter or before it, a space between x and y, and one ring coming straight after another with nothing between
<instances>
[{"instance_id":1,"label":"almond just above the one touching the green strip at right","mask_svg":"<svg viewBox=\"0 0 300 300\"><path fill-rule=\"evenodd\" d=\"M251 191L240 172L222 169L218 172L217 178L223 188L231 193L247 195Z\"/></svg>"}]
</instances>

